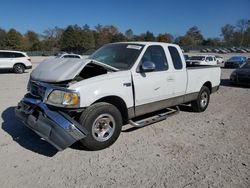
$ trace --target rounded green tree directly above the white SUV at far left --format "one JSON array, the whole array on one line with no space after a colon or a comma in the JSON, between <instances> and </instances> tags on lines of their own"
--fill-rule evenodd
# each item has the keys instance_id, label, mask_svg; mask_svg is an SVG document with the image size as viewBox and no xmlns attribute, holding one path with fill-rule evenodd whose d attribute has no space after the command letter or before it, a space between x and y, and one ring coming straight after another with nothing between
<instances>
[{"instance_id":1,"label":"rounded green tree directly above the white SUV at far left","mask_svg":"<svg viewBox=\"0 0 250 188\"><path fill-rule=\"evenodd\" d=\"M10 50L21 50L22 49L23 36L15 29L10 29L5 37L5 46Z\"/></svg>"}]
</instances>

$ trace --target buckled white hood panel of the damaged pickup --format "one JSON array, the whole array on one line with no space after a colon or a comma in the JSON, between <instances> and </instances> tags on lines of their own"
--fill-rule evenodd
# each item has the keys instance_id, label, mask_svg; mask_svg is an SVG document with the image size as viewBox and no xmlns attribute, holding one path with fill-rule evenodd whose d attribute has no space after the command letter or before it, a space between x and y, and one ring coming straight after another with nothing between
<instances>
[{"instance_id":1,"label":"buckled white hood panel of the damaged pickup","mask_svg":"<svg viewBox=\"0 0 250 188\"><path fill-rule=\"evenodd\" d=\"M71 80L78 75L90 59L55 58L41 62L32 72L31 79L43 82Z\"/></svg>"}]
</instances>

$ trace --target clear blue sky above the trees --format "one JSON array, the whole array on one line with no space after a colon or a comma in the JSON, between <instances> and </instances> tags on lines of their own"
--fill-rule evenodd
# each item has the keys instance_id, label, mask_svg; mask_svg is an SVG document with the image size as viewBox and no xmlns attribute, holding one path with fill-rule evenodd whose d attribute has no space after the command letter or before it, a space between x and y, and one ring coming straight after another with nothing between
<instances>
[{"instance_id":1,"label":"clear blue sky above the trees","mask_svg":"<svg viewBox=\"0 0 250 188\"><path fill-rule=\"evenodd\" d=\"M250 20L250 0L3 0L0 28L42 34L55 26L97 24L134 34L151 31L184 35L198 26L204 37L220 37L221 27Z\"/></svg>"}]
</instances>

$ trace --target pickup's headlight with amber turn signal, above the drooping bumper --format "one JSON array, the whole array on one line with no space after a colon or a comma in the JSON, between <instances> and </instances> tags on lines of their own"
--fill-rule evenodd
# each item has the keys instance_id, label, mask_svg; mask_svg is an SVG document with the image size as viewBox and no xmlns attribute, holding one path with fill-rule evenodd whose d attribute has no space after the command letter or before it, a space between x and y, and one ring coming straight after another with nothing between
<instances>
[{"instance_id":1,"label":"pickup's headlight with amber turn signal, above the drooping bumper","mask_svg":"<svg viewBox=\"0 0 250 188\"><path fill-rule=\"evenodd\" d=\"M73 91L53 90L47 98L48 104L60 107L78 107L79 102L78 93Z\"/></svg>"}]
</instances>

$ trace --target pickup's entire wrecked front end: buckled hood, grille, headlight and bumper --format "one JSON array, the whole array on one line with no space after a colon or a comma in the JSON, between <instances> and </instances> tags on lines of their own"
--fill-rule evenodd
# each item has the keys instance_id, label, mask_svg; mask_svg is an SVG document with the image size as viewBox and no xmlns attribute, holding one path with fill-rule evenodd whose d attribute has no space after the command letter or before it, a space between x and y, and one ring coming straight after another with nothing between
<instances>
[{"instance_id":1,"label":"pickup's entire wrecked front end: buckled hood, grille, headlight and bumper","mask_svg":"<svg viewBox=\"0 0 250 188\"><path fill-rule=\"evenodd\" d=\"M71 84L115 69L93 60L47 60L32 73L29 93L15 109L16 117L58 150L83 139L88 131L77 122L80 94Z\"/></svg>"}]
</instances>

